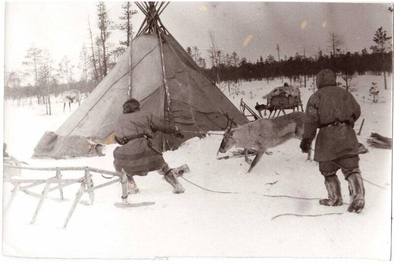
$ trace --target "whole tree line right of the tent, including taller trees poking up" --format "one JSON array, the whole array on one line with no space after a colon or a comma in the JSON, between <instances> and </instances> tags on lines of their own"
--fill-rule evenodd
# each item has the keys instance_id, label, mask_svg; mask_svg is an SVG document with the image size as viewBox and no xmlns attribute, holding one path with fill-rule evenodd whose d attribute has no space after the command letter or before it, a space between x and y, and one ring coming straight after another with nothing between
<instances>
[{"instance_id":1,"label":"whole tree line right of the tent, including taller trees poking up","mask_svg":"<svg viewBox=\"0 0 394 264\"><path fill-rule=\"evenodd\" d=\"M373 37L375 45L370 46L370 53L366 48L361 52L344 52L339 48L341 42L338 34L331 32L328 38L329 54L323 54L319 49L314 56L306 57L305 49L303 55L296 53L295 56L287 56L280 59L280 48L277 44L278 59L273 55L268 55L265 59L260 56L255 62L251 62L246 58L232 52L231 54L223 54L221 50L215 47L212 40L211 48L208 51L212 67L205 69L210 78L219 85L228 86L230 90L230 82L238 83L240 81L266 80L269 83L274 78L286 78L290 82L297 83L298 86L306 87L307 78L317 75L317 73L325 68L329 68L335 72L337 76L342 77L344 87L351 88L351 80L355 74L365 75L374 74L381 75L383 73L385 88L386 72L392 72L393 52L392 45L386 30L379 28ZM186 49L192 55L198 55L197 47L191 50ZM192 56L193 59L200 61L198 56ZM205 63L205 62L204 62ZM201 63L197 64L200 66ZM226 85L227 83L227 85Z\"/></svg>"}]
</instances>

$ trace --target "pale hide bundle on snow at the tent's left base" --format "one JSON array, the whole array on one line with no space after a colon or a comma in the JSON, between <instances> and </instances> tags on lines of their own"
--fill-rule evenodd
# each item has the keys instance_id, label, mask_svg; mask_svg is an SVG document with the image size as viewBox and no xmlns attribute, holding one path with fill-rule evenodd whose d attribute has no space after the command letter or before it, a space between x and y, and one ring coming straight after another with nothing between
<instances>
[{"instance_id":1,"label":"pale hide bundle on snow at the tent's left base","mask_svg":"<svg viewBox=\"0 0 394 264\"><path fill-rule=\"evenodd\" d=\"M34 147L33 158L76 158L103 156L104 145L98 140L83 136L61 136L46 131L37 146Z\"/></svg>"}]
</instances>

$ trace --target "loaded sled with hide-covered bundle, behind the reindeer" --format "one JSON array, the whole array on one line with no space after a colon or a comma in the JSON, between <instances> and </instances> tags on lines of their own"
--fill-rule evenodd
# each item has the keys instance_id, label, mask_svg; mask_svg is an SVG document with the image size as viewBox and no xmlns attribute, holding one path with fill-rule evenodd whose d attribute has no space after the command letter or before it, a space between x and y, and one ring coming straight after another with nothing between
<instances>
[{"instance_id":1,"label":"loaded sled with hide-covered bundle, behind the reindeer","mask_svg":"<svg viewBox=\"0 0 394 264\"><path fill-rule=\"evenodd\" d=\"M263 99L267 99L267 104L259 104L257 103L255 109L259 111L260 116L261 111L264 110L264 116L266 115L266 110L270 112L268 117L271 117L272 112L274 112L273 116L275 116L276 112L279 110L278 116L280 112L285 113L285 109L293 109L295 111L299 111L298 107L301 107L301 111L303 112L302 108L302 101L301 101L301 93L299 89L294 85L289 85L285 83L283 86L276 87L271 90L269 93L263 96Z\"/></svg>"}]
</instances>

